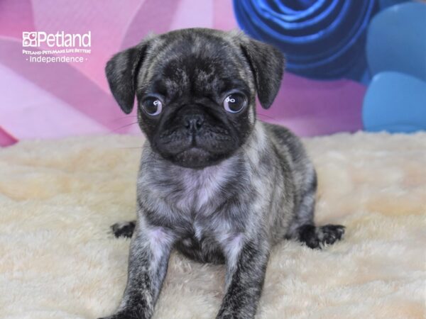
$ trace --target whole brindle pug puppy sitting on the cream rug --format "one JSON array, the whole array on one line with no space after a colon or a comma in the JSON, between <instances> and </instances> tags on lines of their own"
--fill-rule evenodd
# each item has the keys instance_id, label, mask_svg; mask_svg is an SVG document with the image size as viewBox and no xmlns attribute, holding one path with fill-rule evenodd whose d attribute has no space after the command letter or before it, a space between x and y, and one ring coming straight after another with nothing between
<instances>
[{"instance_id":1,"label":"whole brindle pug puppy sitting on the cream rug","mask_svg":"<svg viewBox=\"0 0 426 319\"><path fill-rule=\"evenodd\" d=\"M314 224L317 177L300 140L256 119L256 94L269 108L283 68L271 45L204 28L151 35L109 60L112 94L124 113L136 96L147 140L137 221L113 225L132 238L126 290L107 318L151 318L173 248L226 264L217 318L253 318L273 245L342 238L342 225Z\"/></svg>"}]
</instances>

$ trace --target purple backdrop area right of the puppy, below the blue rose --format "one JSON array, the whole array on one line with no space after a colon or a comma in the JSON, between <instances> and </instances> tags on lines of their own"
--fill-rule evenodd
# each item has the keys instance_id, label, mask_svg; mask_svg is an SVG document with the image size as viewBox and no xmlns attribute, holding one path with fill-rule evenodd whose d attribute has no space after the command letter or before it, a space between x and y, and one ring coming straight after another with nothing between
<instances>
[{"instance_id":1,"label":"purple backdrop area right of the puppy, below the blue rose","mask_svg":"<svg viewBox=\"0 0 426 319\"><path fill-rule=\"evenodd\" d=\"M302 136L362 129L366 87L348 79L317 81L285 73L273 106L258 108L263 121L288 126Z\"/></svg>"}]
</instances>

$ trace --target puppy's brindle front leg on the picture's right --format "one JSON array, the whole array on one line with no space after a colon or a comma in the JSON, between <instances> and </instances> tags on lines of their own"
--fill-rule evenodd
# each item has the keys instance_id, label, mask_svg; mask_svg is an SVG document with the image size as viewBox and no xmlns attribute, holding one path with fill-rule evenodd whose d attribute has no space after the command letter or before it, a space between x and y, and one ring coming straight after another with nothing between
<instances>
[{"instance_id":1,"label":"puppy's brindle front leg on the picture's right","mask_svg":"<svg viewBox=\"0 0 426 319\"><path fill-rule=\"evenodd\" d=\"M269 258L266 239L245 239L239 235L224 247L226 294L217 318L253 318L261 296Z\"/></svg>"}]
</instances>

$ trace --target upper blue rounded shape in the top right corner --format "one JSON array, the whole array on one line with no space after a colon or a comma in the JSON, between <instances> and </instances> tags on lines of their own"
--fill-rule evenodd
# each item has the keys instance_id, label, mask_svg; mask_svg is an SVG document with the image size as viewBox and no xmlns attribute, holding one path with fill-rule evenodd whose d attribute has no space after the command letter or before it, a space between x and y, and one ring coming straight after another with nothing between
<instances>
[{"instance_id":1,"label":"upper blue rounded shape in the top right corner","mask_svg":"<svg viewBox=\"0 0 426 319\"><path fill-rule=\"evenodd\" d=\"M396 4L374 16L366 53L371 75L397 71L426 81L426 4Z\"/></svg>"}]
</instances>

